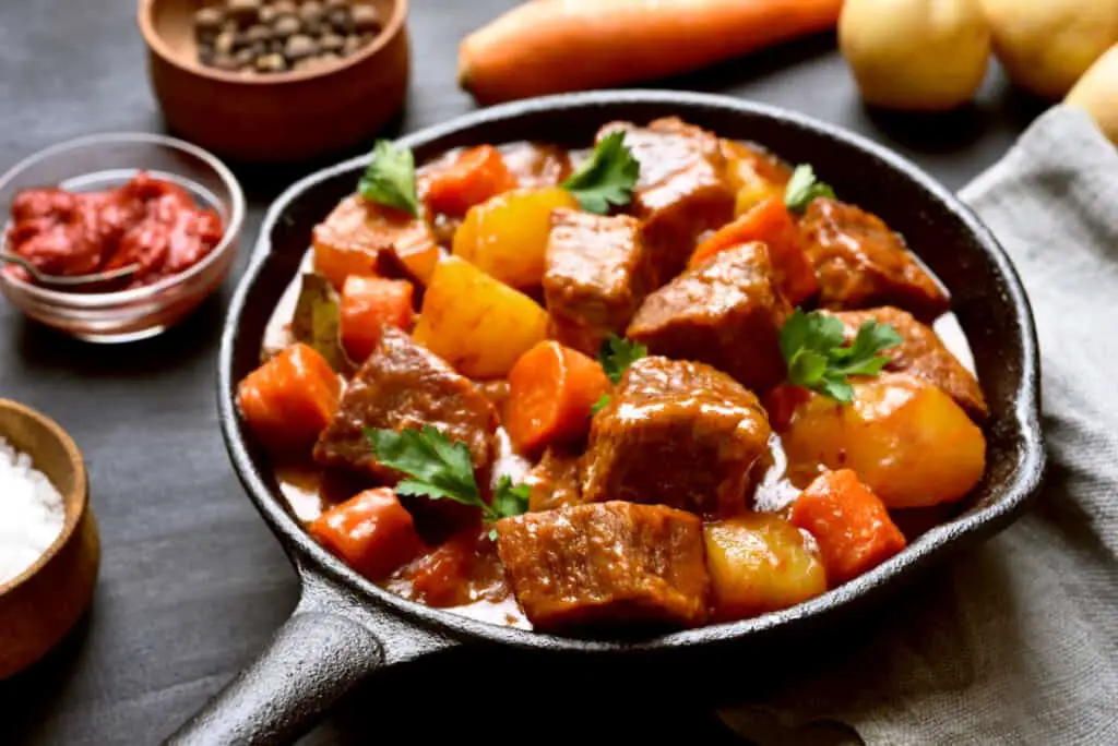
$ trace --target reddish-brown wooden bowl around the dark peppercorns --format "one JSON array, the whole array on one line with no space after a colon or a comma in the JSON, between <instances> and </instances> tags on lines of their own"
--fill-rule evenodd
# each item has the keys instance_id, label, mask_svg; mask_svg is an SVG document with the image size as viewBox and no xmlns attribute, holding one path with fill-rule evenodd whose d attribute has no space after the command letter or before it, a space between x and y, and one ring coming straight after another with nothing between
<instances>
[{"instance_id":1,"label":"reddish-brown wooden bowl around the dark peppercorns","mask_svg":"<svg viewBox=\"0 0 1118 746\"><path fill-rule=\"evenodd\" d=\"M241 74L198 61L193 13L202 0L140 0L148 71L168 125L241 161L301 161L352 147L404 104L409 56L407 0L368 0L380 36L335 65Z\"/></svg>"}]
</instances>

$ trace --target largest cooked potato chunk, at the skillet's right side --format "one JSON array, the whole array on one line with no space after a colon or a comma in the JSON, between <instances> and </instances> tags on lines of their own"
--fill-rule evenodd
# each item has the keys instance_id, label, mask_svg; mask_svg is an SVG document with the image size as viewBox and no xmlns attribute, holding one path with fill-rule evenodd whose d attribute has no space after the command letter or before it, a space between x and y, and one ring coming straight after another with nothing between
<instances>
[{"instance_id":1,"label":"largest cooked potato chunk, at the skillet's right side","mask_svg":"<svg viewBox=\"0 0 1118 746\"><path fill-rule=\"evenodd\" d=\"M889 508L950 503L986 467L986 439L938 388L904 373L854 384L854 402L811 394L780 432L793 481L852 469Z\"/></svg>"}]
</instances>

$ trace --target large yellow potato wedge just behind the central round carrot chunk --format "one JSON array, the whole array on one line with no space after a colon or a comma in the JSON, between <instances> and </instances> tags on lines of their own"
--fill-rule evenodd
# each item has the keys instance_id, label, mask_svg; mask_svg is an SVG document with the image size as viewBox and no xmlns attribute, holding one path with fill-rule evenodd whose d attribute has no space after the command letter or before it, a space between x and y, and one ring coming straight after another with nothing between
<instances>
[{"instance_id":1,"label":"large yellow potato wedge just behind the central round carrot chunk","mask_svg":"<svg viewBox=\"0 0 1118 746\"><path fill-rule=\"evenodd\" d=\"M484 380L508 375L547 329L548 314L534 300L447 257L430 276L413 336L463 375Z\"/></svg>"}]
</instances>

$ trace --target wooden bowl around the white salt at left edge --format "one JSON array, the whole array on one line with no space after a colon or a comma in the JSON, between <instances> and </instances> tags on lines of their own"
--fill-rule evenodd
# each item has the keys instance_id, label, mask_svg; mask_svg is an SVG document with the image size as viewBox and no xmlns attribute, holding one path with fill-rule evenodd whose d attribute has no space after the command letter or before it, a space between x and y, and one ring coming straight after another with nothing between
<instances>
[{"instance_id":1,"label":"wooden bowl around the white salt at left edge","mask_svg":"<svg viewBox=\"0 0 1118 746\"><path fill-rule=\"evenodd\" d=\"M0 437L31 457L66 505L66 524L50 548L22 574L0 583L0 679L4 679L54 648L89 605L101 541L89 509L85 462L58 423L0 399Z\"/></svg>"}]
</instances>

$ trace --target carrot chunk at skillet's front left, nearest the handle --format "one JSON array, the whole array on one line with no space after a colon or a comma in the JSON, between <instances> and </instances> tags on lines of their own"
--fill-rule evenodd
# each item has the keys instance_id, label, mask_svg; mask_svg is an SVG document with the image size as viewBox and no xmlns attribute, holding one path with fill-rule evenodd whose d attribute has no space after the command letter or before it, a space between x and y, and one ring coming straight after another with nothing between
<instances>
[{"instance_id":1,"label":"carrot chunk at skillet's front left, nearest the handle","mask_svg":"<svg viewBox=\"0 0 1118 746\"><path fill-rule=\"evenodd\" d=\"M367 489L307 527L315 539L372 581L392 574L424 548L411 514L387 488Z\"/></svg>"}]
</instances>

